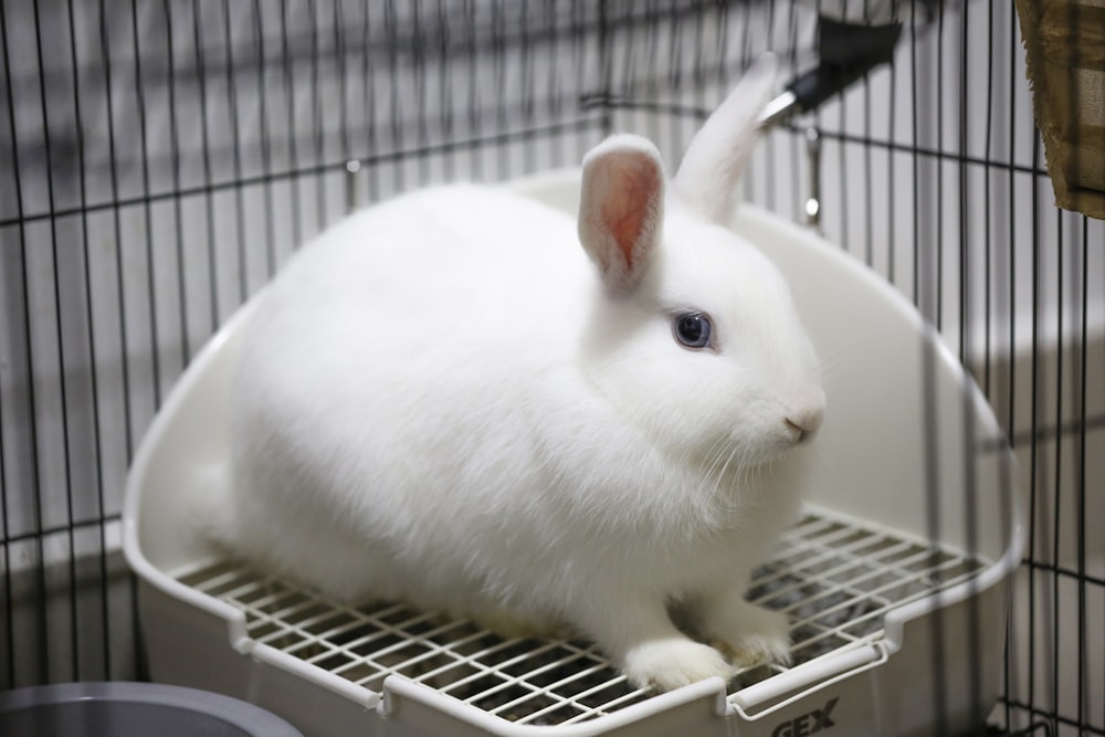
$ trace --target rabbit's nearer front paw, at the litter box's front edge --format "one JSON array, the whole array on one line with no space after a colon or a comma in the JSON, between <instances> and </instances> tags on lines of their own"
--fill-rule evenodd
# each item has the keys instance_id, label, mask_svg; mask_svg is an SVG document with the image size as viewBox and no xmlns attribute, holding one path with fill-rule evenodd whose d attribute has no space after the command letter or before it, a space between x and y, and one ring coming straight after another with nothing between
<instances>
[{"instance_id":1,"label":"rabbit's nearer front paw, at the litter box's front edge","mask_svg":"<svg viewBox=\"0 0 1105 737\"><path fill-rule=\"evenodd\" d=\"M625 655L625 675L644 688L672 691L712 676L728 681L733 667L722 653L684 638L655 640Z\"/></svg>"}]
</instances>

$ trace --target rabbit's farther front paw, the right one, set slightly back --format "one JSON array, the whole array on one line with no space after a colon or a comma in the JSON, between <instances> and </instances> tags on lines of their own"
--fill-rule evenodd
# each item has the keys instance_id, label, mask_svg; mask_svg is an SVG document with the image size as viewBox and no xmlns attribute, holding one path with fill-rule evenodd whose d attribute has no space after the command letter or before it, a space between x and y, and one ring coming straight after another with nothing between
<instances>
[{"instance_id":1,"label":"rabbit's farther front paw, the right one, set slightly back","mask_svg":"<svg viewBox=\"0 0 1105 737\"><path fill-rule=\"evenodd\" d=\"M782 612L741 601L712 624L707 641L737 667L790 662L790 624Z\"/></svg>"}]
</instances>

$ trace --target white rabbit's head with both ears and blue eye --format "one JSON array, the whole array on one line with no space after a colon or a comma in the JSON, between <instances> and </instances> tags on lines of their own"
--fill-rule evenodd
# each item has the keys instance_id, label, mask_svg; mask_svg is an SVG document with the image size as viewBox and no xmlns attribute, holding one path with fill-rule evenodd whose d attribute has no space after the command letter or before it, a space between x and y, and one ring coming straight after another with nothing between
<instances>
[{"instance_id":1,"label":"white rabbit's head with both ears and blue eye","mask_svg":"<svg viewBox=\"0 0 1105 737\"><path fill-rule=\"evenodd\" d=\"M807 443L824 413L819 364L786 281L726 223L772 70L745 77L669 183L646 139L583 161L579 236L600 275L582 364L676 463L740 472Z\"/></svg>"}]
</instances>

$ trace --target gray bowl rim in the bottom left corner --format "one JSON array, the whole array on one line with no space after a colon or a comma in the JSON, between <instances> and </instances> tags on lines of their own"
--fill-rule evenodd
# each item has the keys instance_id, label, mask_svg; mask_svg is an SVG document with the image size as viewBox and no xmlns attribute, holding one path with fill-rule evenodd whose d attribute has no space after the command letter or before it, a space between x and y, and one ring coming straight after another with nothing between
<instances>
[{"instance_id":1,"label":"gray bowl rim in the bottom left corner","mask_svg":"<svg viewBox=\"0 0 1105 737\"><path fill-rule=\"evenodd\" d=\"M156 683L63 683L0 692L4 737L303 737L253 704Z\"/></svg>"}]
</instances>

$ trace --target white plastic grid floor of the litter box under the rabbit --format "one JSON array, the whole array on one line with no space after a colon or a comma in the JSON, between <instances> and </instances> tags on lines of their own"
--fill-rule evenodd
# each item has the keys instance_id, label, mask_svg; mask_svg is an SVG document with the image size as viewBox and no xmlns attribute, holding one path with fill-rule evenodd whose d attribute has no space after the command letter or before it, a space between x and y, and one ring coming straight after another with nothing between
<instances>
[{"instance_id":1,"label":"white plastic grid floor of the litter box under the rabbit","mask_svg":"<svg viewBox=\"0 0 1105 737\"><path fill-rule=\"evenodd\" d=\"M808 510L754 576L748 598L787 612L792 662L880 639L894 607L954 586L987 561ZM561 725L643 701L586 642L505 640L472 622L394 603L351 608L232 561L178 576L240 607L251 638L372 691L399 673L499 716ZM729 693L788 666L747 668Z\"/></svg>"}]
</instances>

